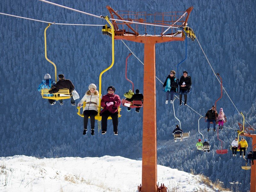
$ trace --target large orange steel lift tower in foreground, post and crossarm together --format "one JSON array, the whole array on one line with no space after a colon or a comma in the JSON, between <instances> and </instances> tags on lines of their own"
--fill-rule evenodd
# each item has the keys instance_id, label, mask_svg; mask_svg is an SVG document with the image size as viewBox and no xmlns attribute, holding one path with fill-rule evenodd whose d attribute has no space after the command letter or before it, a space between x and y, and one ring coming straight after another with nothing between
<instances>
[{"instance_id":1,"label":"large orange steel lift tower in foreground, post and crossarm together","mask_svg":"<svg viewBox=\"0 0 256 192\"><path fill-rule=\"evenodd\" d=\"M146 12L114 11L110 6L107 6L107 9L112 19L122 20L112 20L115 33L114 39L144 44L141 192L157 192L155 44L169 41L184 41L187 34L189 37L189 34L192 34L191 31L185 32L183 28L172 27L186 27L189 14L193 7L188 8L185 12L156 12L153 14L146 14ZM129 21L168 26L170 28L129 23ZM106 30L108 29L109 27ZM171 52L172 50L170 50L170 54Z\"/></svg>"}]
</instances>

